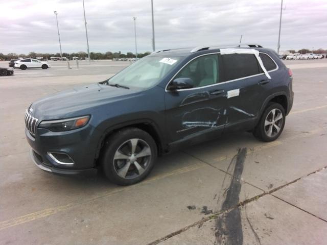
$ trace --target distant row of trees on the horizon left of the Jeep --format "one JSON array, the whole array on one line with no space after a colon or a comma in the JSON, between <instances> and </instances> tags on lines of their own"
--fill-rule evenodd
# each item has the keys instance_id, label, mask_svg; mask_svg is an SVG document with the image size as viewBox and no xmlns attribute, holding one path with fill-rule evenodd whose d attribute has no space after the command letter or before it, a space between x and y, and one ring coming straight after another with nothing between
<instances>
[{"instance_id":1,"label":"distant row of trees on the horizon left of the Jeep","mask_svg":"<svg viewBox=\"0 0 327 245\"><path fill-rule=\"evenodd\" d=\"M140 53L137 54L137 58L142 58L144 56L147 56L151 54L150 52L145 52L145 53ZM0 60L11 60L11 59L17 59L18 57L21 58L29 58L29 57L43 57L44 60L48 59L50 60L50 57L60 57L59 53L56 54L50 54L50 53L35 53L35 52L30 52L29 54L15 54L15 53L9 53L7 55L4 55L0 53ZM87 53L85 52L78 52L78 53L62 53L62 57L79 57L81 59L87 58ZM91 60L111 60L113 58L119 59L119 58L135 58L135 54L128 52L127 54L122 54L121 52L106 52L106 53L90 53L90 58Z\"/></svg>"}]
</instances>

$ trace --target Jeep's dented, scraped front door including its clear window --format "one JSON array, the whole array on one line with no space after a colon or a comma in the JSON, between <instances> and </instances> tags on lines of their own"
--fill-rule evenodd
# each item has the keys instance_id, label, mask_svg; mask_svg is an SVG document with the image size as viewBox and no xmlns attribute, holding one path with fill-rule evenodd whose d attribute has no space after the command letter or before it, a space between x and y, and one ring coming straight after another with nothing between
<instances>
[{"instance_id":1,"label":"Jeep's dented, scraped front door including its clear window","mask_svg":"<svg viewBox=\"0 0 327 245\"><path fill-rule=\"evenodd\" d=\"M194 87L166 91L166 126L170 142L217 137L225 124L226 92L220 88L218 55L204 55L186 64L173 78L191 78Z\"/></svg>"}]
</instances>

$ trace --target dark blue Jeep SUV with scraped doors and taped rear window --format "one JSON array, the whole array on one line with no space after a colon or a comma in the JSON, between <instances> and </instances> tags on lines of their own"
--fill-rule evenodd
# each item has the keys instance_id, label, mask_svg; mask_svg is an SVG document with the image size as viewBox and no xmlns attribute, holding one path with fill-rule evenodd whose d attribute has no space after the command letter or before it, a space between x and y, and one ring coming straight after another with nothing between
<instances>
[{"instance_id":1,"label":"dark blue Jeep SUV with scraped doors and taped rear window","mask_svg":"<svg viewBox=\"0 0 327 245\"><path fill-rule=\"evenodd\" d=\"M34 102L26 136L45 171L101 168L129 185L150 173L157 156L222 133L275 140L292 105L292 72L268 48L164 50L106 81Z\"/></svg>"}]
</instances>

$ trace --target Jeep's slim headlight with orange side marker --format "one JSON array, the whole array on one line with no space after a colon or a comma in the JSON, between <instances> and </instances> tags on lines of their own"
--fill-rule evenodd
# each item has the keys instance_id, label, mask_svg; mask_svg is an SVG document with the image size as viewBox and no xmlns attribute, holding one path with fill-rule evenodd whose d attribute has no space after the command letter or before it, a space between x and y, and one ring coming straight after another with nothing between
<instances>
[{"instance_id":1,"label":"Jeep's slim headlight with orange side marker","mask_svg":"<svg viewBox=\"0 0 327 245\"><path fill-rule=\"evenodd\" d=\"M90 116L80 116L60 120L45 120L41 121L39 128L49 129L54 132L68 131L84 127L89 119Z\"/></svg>"}]
</instances>

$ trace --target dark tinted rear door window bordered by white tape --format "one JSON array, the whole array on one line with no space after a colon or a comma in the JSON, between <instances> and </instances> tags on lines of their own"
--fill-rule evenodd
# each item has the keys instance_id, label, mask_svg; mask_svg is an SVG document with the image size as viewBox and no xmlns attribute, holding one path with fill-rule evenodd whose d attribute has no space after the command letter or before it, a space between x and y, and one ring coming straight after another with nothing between
<instances>
[{"instance_id":1,"label":"dark tinted rear door window bordered by white tape","mask_svg":"<svg viewBox=\"0 0 327 245\"><path fill-rule=\"evenodd\" d=\"M251 54L221 55L224 81L259 74L259 63Z\"/></svg>"}]
</instances>

